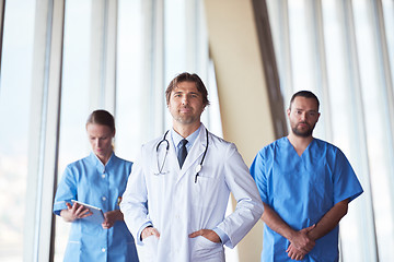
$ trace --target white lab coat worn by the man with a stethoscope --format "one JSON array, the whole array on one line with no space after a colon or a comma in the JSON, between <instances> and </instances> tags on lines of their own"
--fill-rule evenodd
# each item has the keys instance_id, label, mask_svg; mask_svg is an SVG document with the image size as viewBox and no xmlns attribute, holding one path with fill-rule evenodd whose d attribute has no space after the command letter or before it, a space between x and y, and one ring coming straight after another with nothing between
<instances>
[{"instance_id":1,"label":"white lab coat worn by the man with a stethoscope","mask_svg":"<svg viewBox=\"0 0 394 262\"><path fill-rule=\"evenodd\" d=\"M189 238L199 229L219 228L233 248L251 230L263 213L263 204L256 184L234 144L208 133L209 147L197 182L196 166L207 146L206 129L193 144L185 163L179 169L170 133L157 154L162 136L141 148L141 155L131 170L120 210L126 225L137 243L146 245L148 261L224 261L222 243L215 243L205 237ZM158 159L159 157L159 159ZM237 204L235 211L224 217L230 191ZM151 223L160 238L148 237L141 242L141 230ZM148 251L148 252L147 252Z\"/></svg>"}]
</instances>

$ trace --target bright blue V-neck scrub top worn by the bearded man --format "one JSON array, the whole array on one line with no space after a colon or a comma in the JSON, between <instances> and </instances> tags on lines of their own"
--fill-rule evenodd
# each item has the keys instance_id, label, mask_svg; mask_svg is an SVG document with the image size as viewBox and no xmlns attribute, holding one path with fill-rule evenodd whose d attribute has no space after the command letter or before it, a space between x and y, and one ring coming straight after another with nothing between
<instances>
[{"instance_id":1,"label":"bright blue V-neck scrub top worn by the bearded man","mask_svg":"<svg viewBox=\"0 0 394 262\"><path fill-rule=\"evenodd\" d=\"M336 146L314 139L301 156L281 138L260 150L251 166L264 203L296 230L316 224L336 203L362 193L354 169ZM338 261L338 226L316 240L303 261ZM262 261L291 261L290 242L264 225Z\"/></svg>"}]
</instances>

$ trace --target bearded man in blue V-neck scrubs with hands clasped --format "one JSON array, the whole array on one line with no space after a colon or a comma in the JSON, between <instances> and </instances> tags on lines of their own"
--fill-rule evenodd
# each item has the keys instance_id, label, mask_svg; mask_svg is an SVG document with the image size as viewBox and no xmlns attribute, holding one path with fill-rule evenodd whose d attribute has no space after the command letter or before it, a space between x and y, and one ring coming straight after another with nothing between
<instances>
[{"instance_id":1,"label":"bearded man in blue V-neck scrubs with hands clasped","mask_svg":"<svg viewBox=\"0 0 394 262\"><path fill-rule=\"evenodd\" d=\"M251 166L264 204L262 261L338 261L338 223L362 188L344 153L312 136L318 106L313 93L296 93L289 135Z\"/></svg>"}]
</instances>

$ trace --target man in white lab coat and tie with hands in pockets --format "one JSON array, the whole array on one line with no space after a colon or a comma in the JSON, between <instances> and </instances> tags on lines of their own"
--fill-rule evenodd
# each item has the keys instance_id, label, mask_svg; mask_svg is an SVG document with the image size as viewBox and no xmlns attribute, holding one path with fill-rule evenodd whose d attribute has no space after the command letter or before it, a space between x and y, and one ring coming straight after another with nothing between
<instances>
[{"instance_id":1,"label":"man in white lab coat and tie with hands in pockets","mask_svg":"<svg viewBox=\"0 0 394 262\"><path fill-rule=\"evenodd\" d=\"M197 74L169 85L173 128L142 145L120 210L148 261L224 261L263 213L248 168L229 143L207 131L200 116L209 105ZM224 217L230 192L236 209Z\"/></svg>"}]
</instances>

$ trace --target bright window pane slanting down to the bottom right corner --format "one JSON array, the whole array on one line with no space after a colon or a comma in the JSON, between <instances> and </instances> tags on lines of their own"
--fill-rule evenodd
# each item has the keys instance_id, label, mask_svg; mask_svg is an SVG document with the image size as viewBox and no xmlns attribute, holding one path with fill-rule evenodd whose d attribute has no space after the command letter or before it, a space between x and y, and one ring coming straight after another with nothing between
<instances>
[{"instance_id":1,"label":"bright window pane slanting down to the bottom right corner","mask_svg":"<svg viewBox=\"0 0 394 262\"><path fill-rule=\"evenodd\" d=\"M382 64L379 61L378 37L374 32L373 9L368 0L357 1L354 4L356 36L358 45L358 59L362 82L362 96L364 107L364 122L367 143L369 150L369 164L371 172L371 187L373 193L373 207L375 215L376 237L379 245L379 259L390 261L390 247L394 246L393 212L390 177L392 162L387 145L390 145L389 115ZM361 45L362 43L362 45Z\"/></svg>"}]
</instances>

